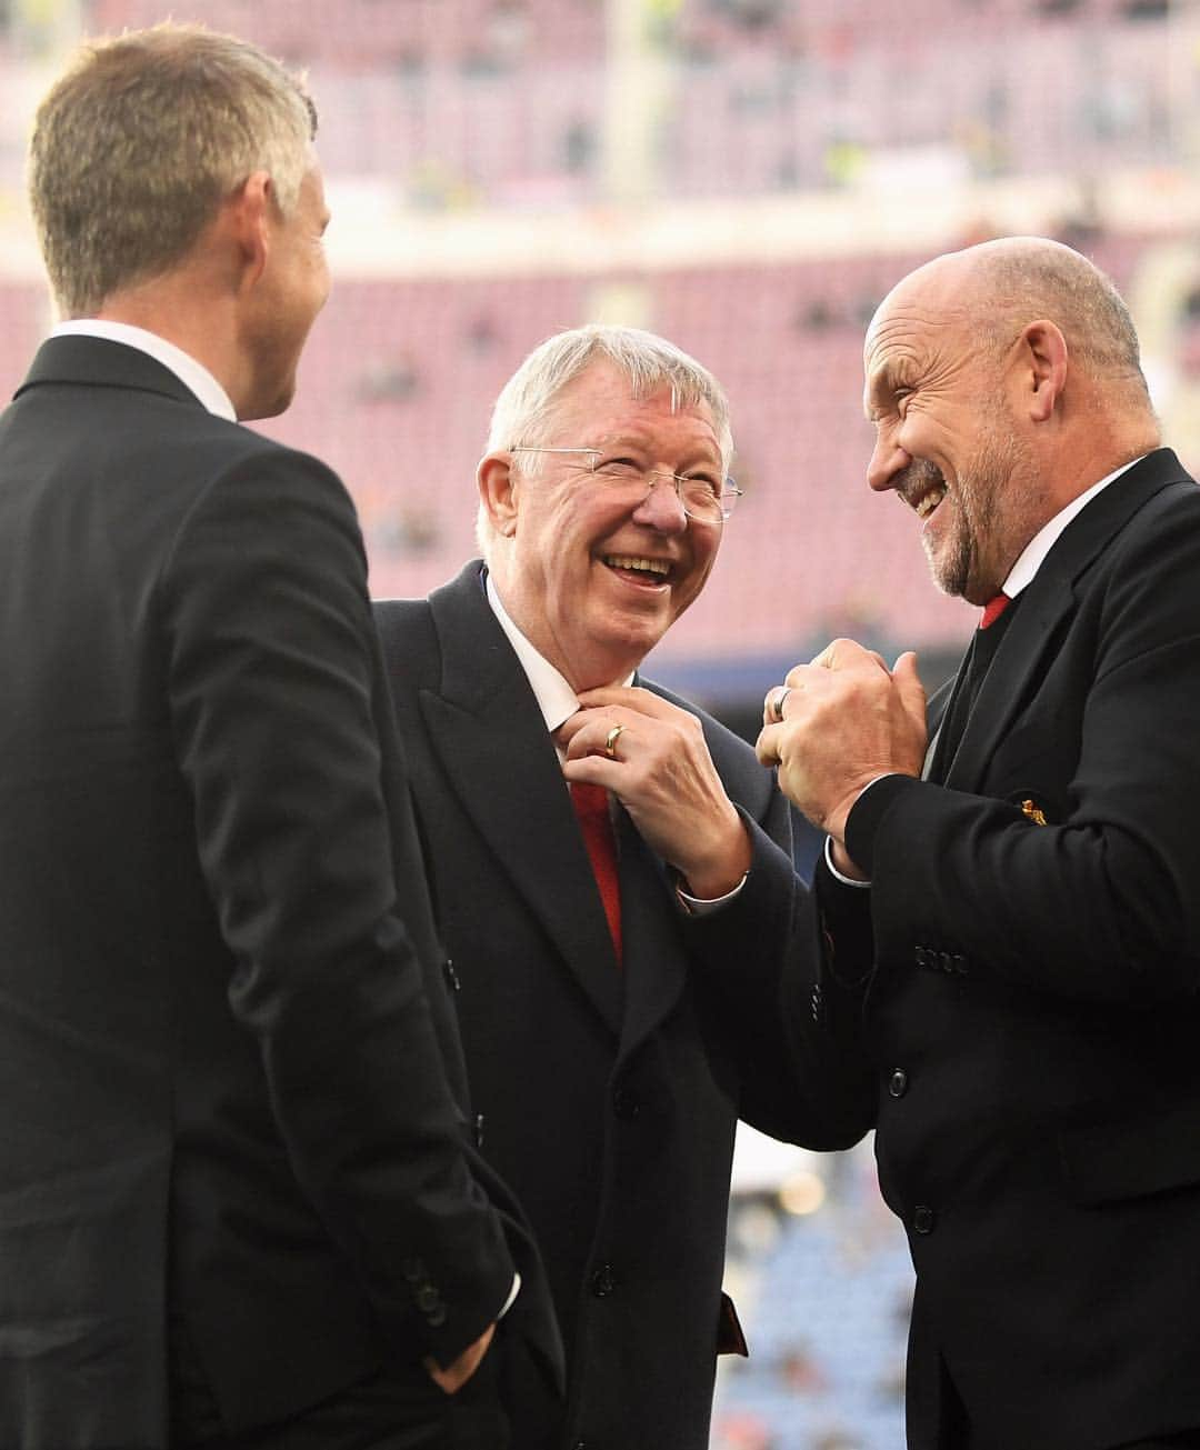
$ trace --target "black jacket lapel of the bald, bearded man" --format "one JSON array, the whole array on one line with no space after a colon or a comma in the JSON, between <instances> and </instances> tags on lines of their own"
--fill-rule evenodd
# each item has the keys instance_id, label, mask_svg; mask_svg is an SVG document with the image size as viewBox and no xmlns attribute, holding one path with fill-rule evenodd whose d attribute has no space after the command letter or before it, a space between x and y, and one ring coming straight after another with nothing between
<instances>
[{"instance_id":1,"label":"black jacket lapel of the bald, bearded man","mask_svg":"<svg viewBox=\"0 0 1200 1450\"><path fill-rule=\"evenodd\" d=\"M1159 448L1110 483L1064 529L1000 641L945 784L980 790L996 747L1041 676L1061 624L1075 609L1080 577L1155 493L1186 481L1178 458L1170 448Z\"/></svg>"}]
</instances>

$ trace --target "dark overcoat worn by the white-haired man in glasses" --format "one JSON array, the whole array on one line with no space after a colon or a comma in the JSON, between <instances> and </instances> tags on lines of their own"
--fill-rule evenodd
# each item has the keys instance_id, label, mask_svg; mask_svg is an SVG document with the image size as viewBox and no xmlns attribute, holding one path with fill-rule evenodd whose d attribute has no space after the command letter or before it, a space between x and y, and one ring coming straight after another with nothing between
<instances>
[{"instance_id":1,"label":"dark overcoat worn by the white-haired man in glasses","mask_svg":"<svg viewBox=\"0 0 1200 1450\"><path fill-rule=\"evenodd\" d=\"M751 874L733 905L688 919L622 816L620 970L480 564L375 613L483 1151L529 1212L568 1343L559 1443L703 1450L735 1119L813 1146L855 1137L825 1112L791 1037L812 983L786 802L749 747L700 715L749 825Z\"/></svg>"}]
</instances>

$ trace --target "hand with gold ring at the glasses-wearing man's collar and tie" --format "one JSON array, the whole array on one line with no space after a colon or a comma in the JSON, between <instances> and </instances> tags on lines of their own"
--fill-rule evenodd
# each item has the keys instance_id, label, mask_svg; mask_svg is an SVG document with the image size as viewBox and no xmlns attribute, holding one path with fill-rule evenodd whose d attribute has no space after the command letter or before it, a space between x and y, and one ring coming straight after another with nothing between
<instances>
[{"instance_id":1,"label":"hand with gold ring at the glasses-wearing man's collar and tie","mask_svg":"<svg viewBox=\"0 0 1200 1450\"><path fill-rule=\"evenodd\" d=\"M567 779L612 790L688 895L732 892L749 870L751 844L700 721L642 689L586 690L580 705L558 732Z\"/></svg>"}]
</instances>

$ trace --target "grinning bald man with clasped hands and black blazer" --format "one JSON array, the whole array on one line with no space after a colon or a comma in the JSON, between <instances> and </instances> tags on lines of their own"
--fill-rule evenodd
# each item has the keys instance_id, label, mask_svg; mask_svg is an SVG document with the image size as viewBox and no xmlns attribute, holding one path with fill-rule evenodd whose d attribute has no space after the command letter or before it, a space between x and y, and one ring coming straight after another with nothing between
<instances>
[{"instance_id":1,"label":"grinning bald man with clasped hands and black blazer","mask_svg":"<svg viewBox=\"0 0 1200 1450\"><path fill-rule=\"evenodd\" d=\"M836 641L759 757L874 935L828 1000L917 1270L909 1444L1200 1446L1200 490L1070 248L939 257L864 361L868 483L981 626L928 716Z\"/></svg>"}]
</instances>

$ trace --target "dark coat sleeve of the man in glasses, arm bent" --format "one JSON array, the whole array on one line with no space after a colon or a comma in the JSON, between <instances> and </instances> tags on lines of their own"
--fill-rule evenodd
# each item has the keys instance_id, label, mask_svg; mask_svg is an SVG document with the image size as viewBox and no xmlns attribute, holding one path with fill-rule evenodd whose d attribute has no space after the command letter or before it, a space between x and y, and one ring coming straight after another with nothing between
<instances>
[{"instance_id":1,"label":"dark coat sleeve of the man in glasses, arm bent","mask_svg":"<svg viewBox=\"0 0 1200 1450\"><path fill-rule=\"evenodd\" d=\"M793 867L788 806L774 777L752 757L732 768L717 763L749 832L751 870L735 900L684 929L713 1031L739 1066L739 1116L809 1148L849 1147L875 1108L861 992L830 976L830 940L816 895ZM862 950L855 944L848 960Z\"/></svg>"}]
</instances>

